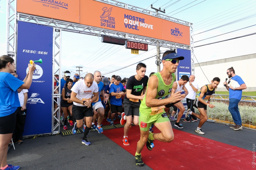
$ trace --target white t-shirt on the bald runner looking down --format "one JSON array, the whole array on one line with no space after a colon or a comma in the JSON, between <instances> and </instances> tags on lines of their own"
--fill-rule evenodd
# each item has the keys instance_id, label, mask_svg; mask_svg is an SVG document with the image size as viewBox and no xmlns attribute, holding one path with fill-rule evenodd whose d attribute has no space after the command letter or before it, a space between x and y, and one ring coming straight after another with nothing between
<instances>
[{"instance_id":1,"label":"white t-shirt on the bald runner looking down","mask_svg":"<svg viewBox=\"0 0 256 170\"><path fill-rule=\"evenodd\" d=\"M71 88L71 91L77 93L76 98L79 100L85 99L91 99L92 94L98 92L98 85L95 81L93 81L91 87L87 87L85 85L84 80L80 80L76 82L76 84ZM73 102L76 106L84 106L79 103ZM85 107L85 106L84 106Z\"/></svg>"}]
</instances>

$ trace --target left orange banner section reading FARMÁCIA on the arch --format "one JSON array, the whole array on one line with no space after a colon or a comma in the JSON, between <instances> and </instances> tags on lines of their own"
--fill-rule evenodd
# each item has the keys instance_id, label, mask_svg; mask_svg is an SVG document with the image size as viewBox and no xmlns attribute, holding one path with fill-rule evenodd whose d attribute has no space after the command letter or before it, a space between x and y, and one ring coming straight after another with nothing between
<instances>
[{"instance_id":1,"label":"left orange banner section reading FARM\u00c1CIA on the arch","mask_svg":"<svg viewBox=\"0 0 256 170\"><path fill-rule=\"evenodd\" d=\"M17 11L79 23L79 0L17 0Z\"/></svg>"}]
</instances>

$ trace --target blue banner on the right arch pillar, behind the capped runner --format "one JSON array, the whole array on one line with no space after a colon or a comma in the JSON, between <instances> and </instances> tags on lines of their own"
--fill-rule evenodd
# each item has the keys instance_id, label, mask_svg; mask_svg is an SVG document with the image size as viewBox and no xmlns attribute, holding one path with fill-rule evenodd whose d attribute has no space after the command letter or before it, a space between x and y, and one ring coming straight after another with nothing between
<instances>
[{"instance_id":1,"label":"blue banner on the right arch pillar, behind the capped runner","mask_svg":"<svg viewBox=\"0 0 256 170\"><path fill-rule=\"evenodd\" d=\"M188 77L190 77L190 75L191 75L191 51L178 48L177 54L185 57L185 59L181 60L179 63L177 79L180 80L181 76L183 76L183 75L187 75ZM185 93L185 92L182 92L181 94L183 94L183 93ZM184 98L181 102L183 103L183 105L185 107L185 112L184 112L184 115L182 116L182 118L184 118L185 114L187 113L187 109L188 109L187 99Z\"/></svg>"}]
</instances>

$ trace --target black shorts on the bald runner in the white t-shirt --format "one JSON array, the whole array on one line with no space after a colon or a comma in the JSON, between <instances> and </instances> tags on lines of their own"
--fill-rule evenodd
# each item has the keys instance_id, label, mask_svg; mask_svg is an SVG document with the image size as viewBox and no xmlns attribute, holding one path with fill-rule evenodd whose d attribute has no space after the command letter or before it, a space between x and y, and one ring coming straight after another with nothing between
<instances>
[{"instance_id":1,"label":"black shorts on the bald runner in the white t-shirt","mask_svg":"<svg viewBox=\"0 0 256 170\"><path fill-rule=\"evenodd\" d=\"M93 116L93 109L91 107L83 107L83 106L76 106L73 105L72 107L72 114L76 120L84 119L84 117L92 117Z\"/></svg>"}]
</instances>

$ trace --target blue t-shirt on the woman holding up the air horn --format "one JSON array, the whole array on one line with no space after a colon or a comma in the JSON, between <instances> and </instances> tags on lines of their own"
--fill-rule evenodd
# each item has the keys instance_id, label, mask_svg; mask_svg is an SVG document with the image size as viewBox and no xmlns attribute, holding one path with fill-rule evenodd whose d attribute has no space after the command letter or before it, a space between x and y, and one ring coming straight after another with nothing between
<instances>
[{"instance_id":1,"label":"blue t-shirt on the woman holding up the air horn","mask_svg":"<svg viewBox=\"0 0 256 170\"><path fill-rule=\"evenodd\" d=\"M23 84L10 73L0 72L0 117L11 115L20 107L17 90Z\"/></svg>"}]
</instances>

